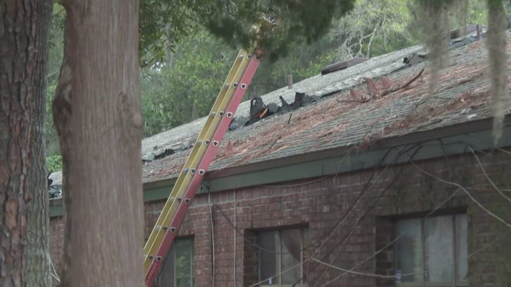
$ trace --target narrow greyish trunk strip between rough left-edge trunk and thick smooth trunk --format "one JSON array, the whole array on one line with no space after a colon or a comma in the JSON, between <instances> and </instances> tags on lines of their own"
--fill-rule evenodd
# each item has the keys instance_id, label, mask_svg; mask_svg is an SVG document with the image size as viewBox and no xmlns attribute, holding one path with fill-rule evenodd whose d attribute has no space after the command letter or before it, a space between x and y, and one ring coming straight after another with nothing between
<instances>
[{"instance_id":1,"label":"narrow greyish trunk strip between rough left-edge trunk and thick smooth trunk","mask_svg":"<svg viewBox=\"0 0 511 287\"><path fill-rule=\"evenodd\" d=\"M52 19L53 1L37 2L36 50L43 57L36 70L34 98L32 99L32 140L30 147L30 167L28 175L29 194L27 227L27 286L52 286L50 274L50 217L48 179L46 171L46 152L44 124L46 113L47 62L49 48L49 29Z\"/></svg>"}]
</instances>

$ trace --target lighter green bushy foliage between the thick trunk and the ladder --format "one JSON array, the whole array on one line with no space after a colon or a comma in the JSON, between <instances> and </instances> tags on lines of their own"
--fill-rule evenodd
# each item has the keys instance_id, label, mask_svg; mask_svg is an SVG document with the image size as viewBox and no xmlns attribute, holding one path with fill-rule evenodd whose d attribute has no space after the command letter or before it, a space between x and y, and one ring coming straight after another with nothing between
<instances>
[{"instance_id":1,"label":"lighter green bushy foliage between the thick trunk and the ladder","mask_svg":"<svg viewBox=\"0 0 511 287\"><path fill-rule=\"evenodd\" d=\"M194 107L200 116L207 114L235 56L234 50L200 31L181 42L164 68L144 69L144 134L189 122Z\"/></svg>"}]
</instances>

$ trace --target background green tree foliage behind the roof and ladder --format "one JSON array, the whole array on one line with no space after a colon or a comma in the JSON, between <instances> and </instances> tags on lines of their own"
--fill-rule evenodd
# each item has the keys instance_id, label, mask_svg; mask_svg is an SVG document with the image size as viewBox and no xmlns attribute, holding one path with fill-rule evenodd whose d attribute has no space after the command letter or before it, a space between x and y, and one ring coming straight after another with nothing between
<instances>
[{"instance_id":1,"label":"background green tree foliage behind the roof and ladder","mask_svg":"<svg viewBox=\"0 0 511 287\"><path fill-rule=\"evenodd\" d=\"M286 75L289 74L296 83L318 75L323 66L335 61L357 56L375 57L419 42L422 39L416 32L419 29L417 17L421 16L421 10L417 8L419 1L423 0L335 3L312 0L143 0L140 57L144 66L141 72L144 136L187 123L210 111L240 43L249 43L247 31L253 23L251 20L259 21L261 13L281 18L276 30L279 38L270 38L263 43L275 44L270 52L280 57L271 62L266 55L247 98L286 86ZM484 23L486 1L469 0L468 22ZM293 6L295 4L297 6ZM302 10L305 12L300 12ZM64 16L62 7L56 4L48 73L46 130L49 156L59 154L51 101L62 60ZM453 21L458 19L453 15L449 17ZM204 23L210 25L204 27ZM458 23L453 25L459 26Z\"/></svg>"}]
</instances>

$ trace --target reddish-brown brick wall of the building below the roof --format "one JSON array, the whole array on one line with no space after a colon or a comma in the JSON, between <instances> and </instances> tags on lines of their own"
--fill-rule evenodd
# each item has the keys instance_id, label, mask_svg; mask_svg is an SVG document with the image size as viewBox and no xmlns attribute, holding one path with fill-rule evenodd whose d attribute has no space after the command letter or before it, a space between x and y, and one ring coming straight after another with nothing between
<instances>
[{"instance_id":1,"label":"reddish-brown brick wall of the building below the roof","mask_svg":"<svg viewBox=\"0 0 511 287\"><path fill-rule=\"evenodd\" d=\"M511 190L511 155L497 153L480 155L484 169L502 189ZM469 191L492 212L511 223L511 203L497 194L482 173L472 154L417 162L422 169L443 179L457 181L470 187ZM451 168L452 166L452 168ZM454 172L453 172L454 170ZM374 255L393 239L394 219L424 216L445 201L457 187L439 182L419 172L413 165L396 165L388 169L370 169L346 173L320 181L285 183L282 187L254 186L211 194L211 203L217 204L249 239L254 241L258 230L288 226L307 226L312 242L327 237L335 224L350 209L359 196L360 203L344 223L332 234L315 255L340 268L350 269ZM373 175L374 174L374 175ZM369 184L367 182L371 180ZM368 190L361 195L364 186ZM371 187L370 189L368 189ZM365 194L365 196L364 196ZM507 192L511 197L511 192ZM164 201L146 204L146 238L149 236ZM369 207L368 207L369 206ZM370 207L373 206L373 207ZM511 233L501 222L475 205L461 190L439 212L452 210L468 213L468 253L470 286L511 285ZM339 244L365 213L344 246ZM236 234L218 210L213 212L215 241L216 286L249 286L258 281L257 248ZM60 268L62 251L62 220L51 220L51 251L56 268ZM199 195L185 217L180 236L193 235L195 244L194 266L197 287L211 286L212 240L210 205L208 195ZM500 237L499 237L500 236ZM496 240L500 238L500 240ZM234 243L236 241L236 250ZM322 242L322 241L321 241ZM489 247L480 250L482 247ZM342 248L341 248L342 246ZM310 254L310 251L308 251ZM236 254L236 255L235 255ZM358 272L393 275L392 246L356 269ZM234 260L236 256L236 262ZM342 271L325 268L314 261L304 266L313 270L308 275L310 286L321 286L342 274ZM314 269L313 269L314 268ZM235 273L236 269L236 273ZM324 275L323 275L324 273ZM347 275L330 286L391 286L392 279Z\"/></svg>"}]
</instances>

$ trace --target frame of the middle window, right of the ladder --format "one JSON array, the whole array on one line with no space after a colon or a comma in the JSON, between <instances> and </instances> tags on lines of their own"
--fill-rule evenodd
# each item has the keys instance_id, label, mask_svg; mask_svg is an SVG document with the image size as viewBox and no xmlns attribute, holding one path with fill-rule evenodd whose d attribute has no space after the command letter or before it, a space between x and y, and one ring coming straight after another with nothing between
<instances>
[{"instance_id":1,"label":"frame of the middle window, right of the ladder","mask_svg":"<svg viewBox=\"0 0 511 287\"><path fill-rule=\"evenodd\" d=\"M258 236L258 240L259 240L259 236L261 236L262 233L266 233L266 232L278 232L278 269L276 271L276 276L272 277L272 278L277 278L278 277L278 284L268 284L267 283L267 280L265 281L265 283L261 283L259 284L260 287L291 287L292 284L283 284L282 283L282 244L283 244L283 241L282 241L282 232L283 231L287 231L287 230L294 230L294 229L298 229L300 231L300 266L299 266L299 269L300 269L300 274L303 274L304 273L304 241L305 241L305 235L306 235L306 229L308 230L308 227L291 227L291 228L285 228L285 229L276 229L276 230L264 230L264 231L260 231L258 232L257 236ZM262 256L262 252L258 252L258 278L259 278L259 281L263 281L264 279L266 278L262 278L261 277L261 256ZM298 267L297 267L298 268ZM303 280L302 280L303 281ZM303 286L303 282L302 282L302 286Z\"/></svg>"}]
</instances>

